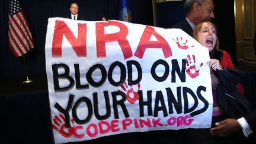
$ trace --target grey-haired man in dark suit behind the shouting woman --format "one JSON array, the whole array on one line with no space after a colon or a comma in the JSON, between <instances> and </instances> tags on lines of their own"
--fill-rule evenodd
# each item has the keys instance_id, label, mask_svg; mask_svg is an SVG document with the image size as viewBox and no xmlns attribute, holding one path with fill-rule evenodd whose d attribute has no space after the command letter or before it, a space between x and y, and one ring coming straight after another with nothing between
<instances>
[{"instance_id":1,"label":"grey-haired man in dark suit behind the shouting woman","mask_svg":"<svg viewBox=\"0 0 256 144\"><path fill-rule=\"evenodd\" d=\"M190 36L193 35L193 29L197 24L214 18L213 0L186 0L184 9L186 13L185 20L172 25L171 28L180 28Z\"/></svg>"}]
</instances>

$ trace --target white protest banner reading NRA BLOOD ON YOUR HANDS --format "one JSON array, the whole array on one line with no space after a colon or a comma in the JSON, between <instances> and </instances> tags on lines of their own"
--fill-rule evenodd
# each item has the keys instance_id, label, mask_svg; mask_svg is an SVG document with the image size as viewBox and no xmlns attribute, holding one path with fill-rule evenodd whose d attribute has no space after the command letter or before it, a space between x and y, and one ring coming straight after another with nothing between
<instances>
[{"instance_id":1,"label":"white protest banner reading NRA BLOOD ON YOUR HANDS","mask_svg":"<svg viewBox=\"0 0 256 144\"><path fill-rule=\"evenodd\" d=\"M45 52L56 143L210 127L209 52L180 29L49 18Z\"/></svg>"}]
</instances>

